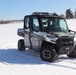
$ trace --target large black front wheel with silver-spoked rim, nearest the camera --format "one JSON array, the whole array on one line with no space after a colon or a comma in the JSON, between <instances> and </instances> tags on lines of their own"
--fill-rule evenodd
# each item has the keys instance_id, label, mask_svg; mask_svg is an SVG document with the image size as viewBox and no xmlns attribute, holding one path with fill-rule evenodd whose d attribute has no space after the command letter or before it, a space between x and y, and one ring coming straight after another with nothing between
<instances>
[{"instance_id":1,"label":"large black front wheel with silver-spoked rim, nearest the camera","mask_svg":"<svg viewBox=\"0 0 76 75\"><path fill-rule=\"evenodd\" d=\"M43 46L40 50L40 57L43 61L53 62L56 58L56 51L51 45Z\"/></svg>"}]
</instances>

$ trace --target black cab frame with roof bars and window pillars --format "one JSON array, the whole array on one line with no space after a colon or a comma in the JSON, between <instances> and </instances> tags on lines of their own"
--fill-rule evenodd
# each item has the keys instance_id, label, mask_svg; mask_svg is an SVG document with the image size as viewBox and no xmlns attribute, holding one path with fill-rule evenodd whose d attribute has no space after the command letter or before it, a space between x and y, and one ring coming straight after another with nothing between
<instances>
[{"instance_id":1,"label":"black cab frame with roof bars and window pillars","mask_svg":"<svg viewBox=\"0 0 76 75\"><path fill-rule=\"evenodd\" d=\"M32 32L33 30L34 30L34 28L33 28L33 17L37 17L37 19L38 19L38 22L39 22L39 31L42 31L42 32L47 32L47 31L45 31L44 30L44 27L43 27L43 23L42 23L42 21L41 21L41 18L51 18L51 19L64 19L65 20L65 18L62 18L62 17L60 17L59 15L57 15L57 14L53 14L53 15L48 15L48 13L47 14L41 14L41 15L38 15L38 14L32 14L32 15L27 15L27 16L25 16L24 17L24 29L26 29L26 25L25 25L25 18L26 17L29 17L29 29L30 29L30 31ZM65 23L66 23L66 21L65 21ZM66 26L67 26L67 23L66 23ZM69 29L68 29L68 26L67 26L67 30L69 31Z\"/></svg>"}]
</instances>

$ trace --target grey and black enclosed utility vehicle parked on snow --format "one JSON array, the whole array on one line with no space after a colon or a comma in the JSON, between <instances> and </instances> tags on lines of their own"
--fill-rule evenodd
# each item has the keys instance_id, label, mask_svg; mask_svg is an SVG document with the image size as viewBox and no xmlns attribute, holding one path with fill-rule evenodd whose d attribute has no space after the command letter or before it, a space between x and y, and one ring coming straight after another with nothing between
<instances>
[{"instance_id":1,"label":"grey and black enclosed utility vehicle parked on snow","mask_svg":"<svg viewBox=\"0 0 76 75\"><path fill-rule=\"evenodd\" d=\"M75 32L68 29L64 18L56 13L34 12L24 17L23 29L17 34L24 39L18 41L18 49L38 51L44 61L53 62L58 55L76 57Z\"/></svg>"}]
</instances>

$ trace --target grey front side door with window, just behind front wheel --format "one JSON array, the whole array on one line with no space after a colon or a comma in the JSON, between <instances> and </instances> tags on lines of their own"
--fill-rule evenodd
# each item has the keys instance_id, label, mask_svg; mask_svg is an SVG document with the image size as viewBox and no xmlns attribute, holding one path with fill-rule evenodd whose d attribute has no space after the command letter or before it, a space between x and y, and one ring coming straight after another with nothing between
<instances>
[{"instance_id":1,"label":"grey front side door with window, just behind front wheel","mask_svg":"<svg viewBox=\"0 0 76 75\"><path fill-rule=\"evenodd\" d=\"M32 20L33 32L30 33L32 49L39 50L39 36L38 36L40 30L39 21L37 17L33 17L32 19L33 19Z\"/></svg>"}]
</instances>

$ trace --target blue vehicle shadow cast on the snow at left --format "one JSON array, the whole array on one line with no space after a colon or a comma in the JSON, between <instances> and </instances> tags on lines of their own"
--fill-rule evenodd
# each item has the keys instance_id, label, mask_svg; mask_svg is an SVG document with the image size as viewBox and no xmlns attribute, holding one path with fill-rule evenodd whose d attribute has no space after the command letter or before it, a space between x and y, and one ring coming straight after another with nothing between
<instances>
[{"instance_id":1,"label":"blue vehicle shadow cast on the snow at left","mask_svg":"<svg viewBox=\"0 0 76 75\"><path fill-rule=\"evenodd\" d=\"M0 62L9 64L43 64L38 52L19 51L17 49L1 49Z\"/></svg>"}]
</instances>

